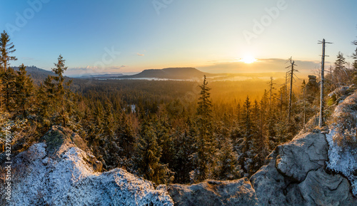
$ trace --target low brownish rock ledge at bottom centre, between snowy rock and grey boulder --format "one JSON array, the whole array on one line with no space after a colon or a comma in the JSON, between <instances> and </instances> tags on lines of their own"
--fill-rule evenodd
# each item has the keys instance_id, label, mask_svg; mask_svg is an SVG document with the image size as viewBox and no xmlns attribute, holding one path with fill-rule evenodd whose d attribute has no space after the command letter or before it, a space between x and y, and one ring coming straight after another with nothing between
<instances>
[{"instance_id":1,"label":"low brownish rock ledge at bottom centre, between snowy rock and grey boulder","mask_svg":"<svg viewBox=\"0 0 357 206\"><path fill-rule=\"evenodd\" d=\"M258 205L256 192L248 178L232 181L206 180L195 185L169 185L177 206Z\"/></svg>"}]
</instances>

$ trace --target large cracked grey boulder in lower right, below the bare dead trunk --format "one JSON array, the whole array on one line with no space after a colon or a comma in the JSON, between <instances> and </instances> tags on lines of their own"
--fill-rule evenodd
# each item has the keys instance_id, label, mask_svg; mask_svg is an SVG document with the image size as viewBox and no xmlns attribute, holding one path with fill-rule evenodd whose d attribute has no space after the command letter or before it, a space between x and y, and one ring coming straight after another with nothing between
<instances>
[{"instance_id":1,"label":"large cracked grey boulder in lower right, below the bare dead trunk","mask_svg":"<svg viewBox=\"0 0 357 206\"><path fill-rule=\"evenodd\" d=\"M356 205L350 184L328 174L328 145L319 131L279 145L270 163L251 177L260 205Z\"/></svg>"}]
</instances>

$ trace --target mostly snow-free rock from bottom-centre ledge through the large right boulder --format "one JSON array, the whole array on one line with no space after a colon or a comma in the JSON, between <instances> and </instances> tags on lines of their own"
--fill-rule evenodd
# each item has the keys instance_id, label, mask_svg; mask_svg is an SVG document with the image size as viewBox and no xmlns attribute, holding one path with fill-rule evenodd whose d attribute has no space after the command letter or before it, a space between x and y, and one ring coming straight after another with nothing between
<instances>
[{"instance_id":1,"label":"mostly snow-free rock from bottom-centre ledge through the large right boulder","mask_svg":"<svg viewBox=\"0 0 357 206\"><path fill-rule=\"evenodd\" d=\"M328 144L319 130L278 145L268 159L250 181L169 185L169 193L176 205L357 205L348 180L325 171Z\"/></svg>"}]
</instances>

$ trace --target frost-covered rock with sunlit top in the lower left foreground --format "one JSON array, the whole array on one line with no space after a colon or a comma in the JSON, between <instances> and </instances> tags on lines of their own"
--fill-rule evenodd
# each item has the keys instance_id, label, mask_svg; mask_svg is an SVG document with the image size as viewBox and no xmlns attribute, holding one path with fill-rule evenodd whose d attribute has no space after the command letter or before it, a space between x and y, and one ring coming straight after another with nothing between
<instances>
[{"instance_id":1,"label":"frost-covered rock with sunlit top in the lower left foreground","mask_svg":"<svg viewBox=\"0 0 357 206\"><path fill-rule=\"evenodd\" d=\"M51 128L46 143L14 158L15 180L6 205L174 205L164 187L156 190L125 170L96 172L83 140L67 132Z\"/></svg>"}]
</instances>

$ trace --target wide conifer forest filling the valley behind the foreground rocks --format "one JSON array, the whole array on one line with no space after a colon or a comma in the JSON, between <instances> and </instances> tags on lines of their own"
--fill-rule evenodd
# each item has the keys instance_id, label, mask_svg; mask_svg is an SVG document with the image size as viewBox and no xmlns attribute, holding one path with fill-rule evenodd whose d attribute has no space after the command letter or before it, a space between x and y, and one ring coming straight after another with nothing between
<instances>
[{"instance_id":1,"label":"wide conifer forest filling the valley behind the foreground rocks","mask_svg":"<svg viewBox=\"0 0 357 206\"><path fill-rule=\"evenodd\" d=\"M16 134L12 155L61 125L84 138L103 170L124 168L156 184L233 180L250 177L276 145L317 125L320 77L296 81L291 67L266 82L95 81L66 78L59 55L54 75L39 82L24 64L11 67L16 49L5 31L0 51L1 161L6 125ZM338 53L325 76L327 120L339 88L357 83L357 48L353 59Z\"/></svg>"}]
</instances>

